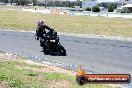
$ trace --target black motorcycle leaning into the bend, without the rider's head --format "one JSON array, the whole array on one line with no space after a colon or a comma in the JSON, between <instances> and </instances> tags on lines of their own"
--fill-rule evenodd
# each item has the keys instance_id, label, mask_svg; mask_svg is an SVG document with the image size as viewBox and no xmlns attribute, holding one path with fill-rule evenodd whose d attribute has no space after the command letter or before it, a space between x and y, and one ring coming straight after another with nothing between
<instances>
[{"instance_id":1,"label":"black motorcycle leaning into the bend, without the rider's head","mask_svg":"<svg viewBox=\"0 0 132 88\"><path fill-rule=\"evenodd\" d=\"M50 30L45 34L42 34L42 36L39 36L39 40L44 54L56 52L59 55L66 56L66 50L59 42L57 32L55 32L54 30Z\"/></svg>"}]
</instances>

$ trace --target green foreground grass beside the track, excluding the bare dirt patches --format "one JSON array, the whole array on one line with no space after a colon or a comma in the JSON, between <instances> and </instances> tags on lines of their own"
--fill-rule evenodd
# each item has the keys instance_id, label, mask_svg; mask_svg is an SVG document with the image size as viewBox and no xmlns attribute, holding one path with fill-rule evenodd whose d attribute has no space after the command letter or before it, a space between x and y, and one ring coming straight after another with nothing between
<instances>
[{"instance_id":1,"label":"green foreground grass beside the track, excluding the bare dirt patches","mask_svg":"<svg viewBox=\"0 0 132 88\"><path fill-rule=\"evenodd\" d=\"M63 73L37 72L32 69L17 68L26 66L40 69L38 65L31 66L23 61L0 61L0 81L6 81L12 88L49 88L53 80L67 80L71 83L71 88L110 88L103 84L85 84L79 86L75 76Z\"/></svg>"}]
</instances>

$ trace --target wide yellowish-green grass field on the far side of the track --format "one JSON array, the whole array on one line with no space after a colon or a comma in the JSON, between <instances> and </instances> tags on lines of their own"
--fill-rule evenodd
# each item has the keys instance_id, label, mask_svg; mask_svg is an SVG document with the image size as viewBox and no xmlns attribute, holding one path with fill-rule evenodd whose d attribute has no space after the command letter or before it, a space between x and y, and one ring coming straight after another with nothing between
<instances>
[{"instance_id":1,"label":"wide yellowish-green grass field on the far side of the track","mask_svg":"<svg viewBox=\"0 0 132 88\"><path fill-rule=\"evenodd\" d=\"M38 19L58 32L132 37L132 19L0 11L0 28L35 31Z\"/></svg>"}]
</instances>

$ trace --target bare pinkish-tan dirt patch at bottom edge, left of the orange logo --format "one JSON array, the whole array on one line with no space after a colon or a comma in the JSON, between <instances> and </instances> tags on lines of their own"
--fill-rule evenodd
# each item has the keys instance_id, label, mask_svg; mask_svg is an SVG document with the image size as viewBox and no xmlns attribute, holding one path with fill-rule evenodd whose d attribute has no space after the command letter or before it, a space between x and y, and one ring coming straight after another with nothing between
<instances>
[{"instance_id":1,"label":"bare pinkish-tan dirt patch at bottom edge, left of the orange logo","mask_svg":"<svg viewBox=\"0 0 132 88\"><path fill-rule=\"evenodd\" d=\"M71 88L71 82L67 80L53 80L49 88Z\"/></svg>"}]
</instances>

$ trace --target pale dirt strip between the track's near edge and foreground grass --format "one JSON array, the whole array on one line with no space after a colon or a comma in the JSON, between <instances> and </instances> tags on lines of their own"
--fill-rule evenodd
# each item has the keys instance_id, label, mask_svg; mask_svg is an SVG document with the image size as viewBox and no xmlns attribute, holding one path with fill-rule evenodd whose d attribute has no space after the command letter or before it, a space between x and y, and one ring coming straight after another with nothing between
<instances>
[{"instance_id":1,"label":"pale dirt strip between the track's near edge and foreground grass","mask_svg":"<svg viewBox=\"0 0 132 88\"><path fill-rule=\"evenodd\" d=\"M20 60L21 60L20 57L17 55L9 54L9 53L0 53L0 62L1 61L20 61ZM59 72L59 73L64 73L68 75L76 75L75 72L63 69L62 67L56 67L53 65L36 63L31 60L24 60L24 62L30 65L42 66L42 68L32 68L30 66L25 66L25 65L16 65L15 67L21 68L21 69L31 69L37 72Z\"/></svg>"}]
</instances>

